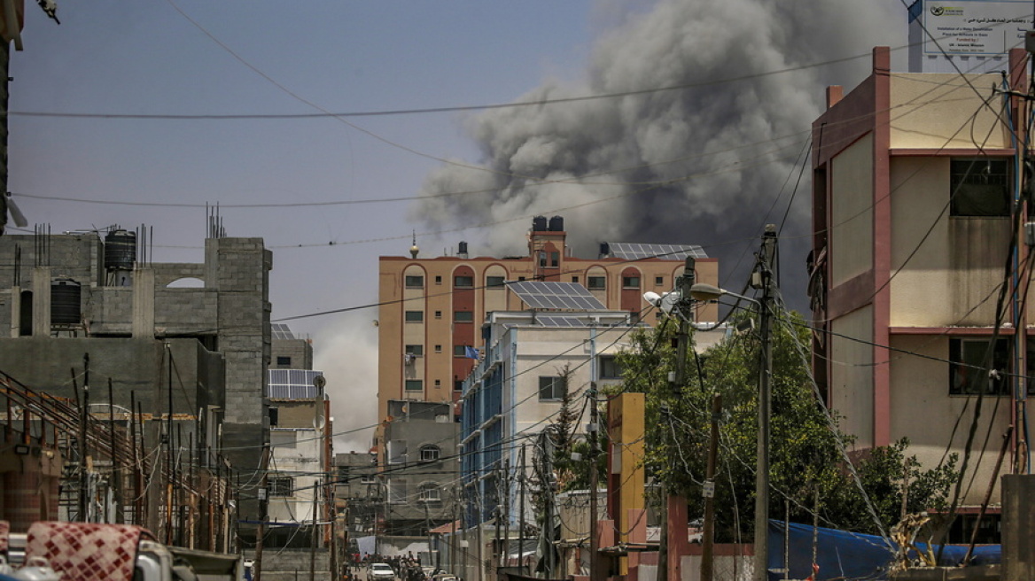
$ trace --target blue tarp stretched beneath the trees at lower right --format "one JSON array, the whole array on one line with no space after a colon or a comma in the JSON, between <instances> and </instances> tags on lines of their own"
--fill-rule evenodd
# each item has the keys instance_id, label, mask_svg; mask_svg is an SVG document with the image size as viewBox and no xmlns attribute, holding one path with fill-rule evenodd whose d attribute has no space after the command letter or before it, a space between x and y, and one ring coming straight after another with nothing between
<instances>
[{"instance_id":1,"label":"blue tarp stretched beneath the trees at lower right","mask_svg":"<svg viewBox=\"0 0 1035 581\"><path fill-rule=\"evenodd\" d=\"M805 579L812 573L812 536L810 525L791 523L788 533L789 550L783 548L782 521L769 521L769 571L783 568L785 555L789 557L792 579ZM827 579L887 579L896 548L875 534L861 534L833 528L815 529L817 539L816 560L820 572L817 581ZM926 545L918 543L921 549ZM938 554L938 546L934 547ZM939 564L956 565L967 554L966 545L946 545ZM1002 560L1000 545L974 548L971 564L992 564ZM781 574L769 574L769 579L783 579Z\"/></svg>"}]
</instances>

